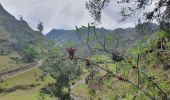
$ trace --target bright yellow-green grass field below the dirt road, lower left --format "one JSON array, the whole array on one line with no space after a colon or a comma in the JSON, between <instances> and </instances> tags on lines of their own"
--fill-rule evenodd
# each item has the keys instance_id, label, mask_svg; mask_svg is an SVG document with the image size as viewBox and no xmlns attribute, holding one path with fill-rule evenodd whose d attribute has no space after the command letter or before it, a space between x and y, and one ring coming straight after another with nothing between
<instances>
[{"instance_id":1,"label":"bright yellow-green grass field below the dirt road, lower left","mask_svg":"<svg viewBox=\"0 0 170 100\"><path fill-rule=\"evenodd\" d=\"M44 81L41 81L39 78L41 74L41 69L36 68L0 83L0 87L2 88L11 88L17 85L40 84L33 89L1 93L0 100L38 100L40 98L39 90L48 83L54 82L54 79L50 75L45 76ZM56 100L56 98L49 97L48 95L44 95L44 98L45 100Z\"/></svg>"}]
</instances>

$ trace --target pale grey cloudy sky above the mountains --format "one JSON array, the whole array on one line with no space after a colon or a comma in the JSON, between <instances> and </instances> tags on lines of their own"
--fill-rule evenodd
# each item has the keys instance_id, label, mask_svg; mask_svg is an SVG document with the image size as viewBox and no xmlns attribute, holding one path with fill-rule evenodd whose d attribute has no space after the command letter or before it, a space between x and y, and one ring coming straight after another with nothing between
<instances>
[{"instance_id":1,"label":"pale grey cloudy sky above the mountains","mask_svg":"<svg viewBox=\"0 0 170 100\"><path fill-rule=\"evenodd\" d=\"M113 0L114 1L114 0ZM44 34L52 28L74 29L75 25L82 26L92 22L86 0L0 0L3 7L17 19L23 16L29 25L36 30L36 25L44 23ZM133 27L138 16L120 22L121 5L111 2L103 11L102 24L99 27L107 29Z\"/></svg>"}]
</instances>

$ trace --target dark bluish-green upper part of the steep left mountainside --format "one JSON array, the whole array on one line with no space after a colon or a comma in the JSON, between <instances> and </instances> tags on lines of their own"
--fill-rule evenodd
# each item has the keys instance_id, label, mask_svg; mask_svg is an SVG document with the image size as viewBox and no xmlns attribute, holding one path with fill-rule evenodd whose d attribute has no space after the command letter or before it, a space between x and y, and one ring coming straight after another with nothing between
<instances>
[{"instance_id":1,"label":"dark bluish-green upper part of the steep left mountainside","mask_svg":"<svg viewBox=\"0 0 170 100\"><path fill-rule=\"evenodd\" d=\"M43 35L40 32L32 30L24 20L16 20L1 4L0 27L8 33L9 40L13 39L11 44L15 49L22 49L26 43L43 40Z\"/></svg>"}]
</instances>

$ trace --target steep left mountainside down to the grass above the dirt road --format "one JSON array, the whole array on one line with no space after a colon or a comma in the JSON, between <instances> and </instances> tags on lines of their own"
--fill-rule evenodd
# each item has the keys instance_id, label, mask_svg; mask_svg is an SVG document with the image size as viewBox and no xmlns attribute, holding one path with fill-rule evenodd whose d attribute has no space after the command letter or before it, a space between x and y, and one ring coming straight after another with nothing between
<instances>
[{"instance_id":1,"label":"steep left mountainside down to the grass above the dirt road","mask_svg":"<svg viewBox=\"0 0 170 100\"><path fill-rule=\"evenodd\" d=\"M17 20L0 4L0 74L29 64L21 55L29 44L44 48L48 42L42 33L31 29L23 19Z\"/></svg>"}]
</instances>

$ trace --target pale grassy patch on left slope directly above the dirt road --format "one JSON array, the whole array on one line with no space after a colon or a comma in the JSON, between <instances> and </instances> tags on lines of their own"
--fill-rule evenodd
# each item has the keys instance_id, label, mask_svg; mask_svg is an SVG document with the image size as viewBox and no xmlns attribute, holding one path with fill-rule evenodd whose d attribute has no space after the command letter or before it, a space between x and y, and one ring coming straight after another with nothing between
<instances>
[{"instance_id":1,"label":"pale grassy patch on left slope directly above the dirt road","mask_svg":"<svg viewBox=\"0 0 170 100\"><path fill-rule=\"evenodd\" d=\"M16 61L11 59L11 57L21 58L21 56L11 46L15 40L2 27L0 27L0 40L3 40L0 42L0 73L27 65L22 62L17 65Z\"/></svg>"}]
</instances>

